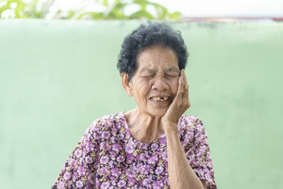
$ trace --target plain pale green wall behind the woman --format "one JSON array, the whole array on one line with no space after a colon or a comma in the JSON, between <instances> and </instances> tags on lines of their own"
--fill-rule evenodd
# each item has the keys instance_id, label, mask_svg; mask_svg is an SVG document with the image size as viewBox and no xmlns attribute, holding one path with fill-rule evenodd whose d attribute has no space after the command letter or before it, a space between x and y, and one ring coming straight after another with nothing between
<instances>
[{"instance_id":1,"label":"plain pale green wall behind the woman","mask_svg":"<svg viewBox=\"0 0 283 189\"><path fill-rule=\"evenodd\" d=\"M88 125L134 108L116 68L138 21L0 20L1 188L50 188ZM219 188L283 188L283 23L173 23Z\"/></svg>"}]
</instances>

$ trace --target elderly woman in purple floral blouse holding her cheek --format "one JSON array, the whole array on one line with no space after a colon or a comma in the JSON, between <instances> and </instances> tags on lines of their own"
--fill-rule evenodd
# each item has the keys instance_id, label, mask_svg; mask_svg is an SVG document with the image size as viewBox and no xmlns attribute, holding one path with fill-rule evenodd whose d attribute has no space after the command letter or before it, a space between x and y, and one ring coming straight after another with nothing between
<instances>
[{"instance_id":1,"label":"elderly woman in purple floral blouse holding her cheek","mask_svg":"<svg viewBox=\"0 0 283 189\"><path fill-rule=\"evenodd\" d=\"M202 121L183 115L187 55L167 23L130 33L117 67L137 107L93 121L52 188L216 188Z\"/></svg>"}]
</instances>

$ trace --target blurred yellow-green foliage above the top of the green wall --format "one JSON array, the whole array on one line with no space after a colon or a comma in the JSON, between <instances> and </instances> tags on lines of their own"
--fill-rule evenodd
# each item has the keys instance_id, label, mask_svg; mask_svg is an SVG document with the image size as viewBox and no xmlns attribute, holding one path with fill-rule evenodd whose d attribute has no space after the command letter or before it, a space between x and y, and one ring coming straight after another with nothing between
<instances>
[{"instance_id":1,"label":"blurred yellow-green foliage above the top of the green wall","mask_svg":"<svg viewBox=\"0 0 283 189\"><path fill-rule=\"evenodd\" d=\"M130 20L130 19L158 19L178 21L180 12L170 13L168 9L160 4L147 0L93 0L102 5L105 11L93 12L83 10L62 11L57 9L51 13L50 8L55 0L39 2L31 0L26 3L23 0L0 0L0 18L62 18L62 19L90 19L90 20ZM138 6L139 10L125 14L129 6ZM151 11L149 11L151 6ZM4 13L6 11L6 13ZM49 16L47 16L49 14Z\"/></svg>"}]
</instances>

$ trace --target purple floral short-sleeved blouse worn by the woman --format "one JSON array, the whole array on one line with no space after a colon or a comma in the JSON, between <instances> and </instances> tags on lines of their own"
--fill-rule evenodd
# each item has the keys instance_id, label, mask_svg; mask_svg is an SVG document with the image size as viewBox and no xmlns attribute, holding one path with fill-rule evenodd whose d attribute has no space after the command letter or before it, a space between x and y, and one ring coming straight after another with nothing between
<instances>
[{"instance_id":1,"label":"purple floral short-sleeved blouse worn by the woman","mask_svg":"<svg viewBox=\"0 0 283 189\"><path fill-rule=\"evenodd\" d=\"M187 160L207 188L215 189L207 132L200 118L182 115L178 136ZM52 188L170 188L166 134L151 144L134 139L123 113L93 121Z\"/></svg>"}]
</instances>

